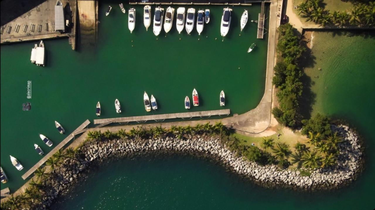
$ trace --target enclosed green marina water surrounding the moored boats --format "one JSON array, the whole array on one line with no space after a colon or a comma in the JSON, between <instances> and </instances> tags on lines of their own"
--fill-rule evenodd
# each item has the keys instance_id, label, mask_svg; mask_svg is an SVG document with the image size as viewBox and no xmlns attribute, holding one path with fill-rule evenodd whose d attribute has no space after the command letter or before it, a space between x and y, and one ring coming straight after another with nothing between
<instances>
[{"instance_id":1,"label":"enclosed green marina water surrounding the moored boats","mask_svg":"<svg viewBox=\"0 0 375 210\"><path fill-rule=\"evenodd\" d=\"M230 31L222 41L222 6L207 7L211 20L201 36L196 29L191 35L178 34L174 24L166 37L164 32L155 37L152 27L145 30L142 6L135 7L136 28L130 34L127 13L118 3L111 4L109 16L108 4L99 5L96 47L72 51L67 39L46 40L46 67L30 63L34 42L1 45L1 166L9 177L1 188L15 191L23 185L21 176L41 158L34 143L45 153L53 148L40 140L39 133L57 145L66 135L57 132L54 121L69 134L86 119L93 123L98 101L101 118L186 112L184 98L191 99L194 88L200 105L189 111L229 108L231 114L241 114L258 105L264 93L268 37L257 39L257 24L251 22L239 36L239 20L243 9L256 19L260 5L234 7ZM247 53L253 42L257 47ZM32 82L31 99L26 98L27 81ZM219 106L221 90L225 107ZM156 97L157 111L145 111L144 91ZM116 98L121 114L115 112ZM31 102L31 111L22 111L26 102ZM11 165L9 155L23 164L22 171Z\"/></svg>"}]
</instances>

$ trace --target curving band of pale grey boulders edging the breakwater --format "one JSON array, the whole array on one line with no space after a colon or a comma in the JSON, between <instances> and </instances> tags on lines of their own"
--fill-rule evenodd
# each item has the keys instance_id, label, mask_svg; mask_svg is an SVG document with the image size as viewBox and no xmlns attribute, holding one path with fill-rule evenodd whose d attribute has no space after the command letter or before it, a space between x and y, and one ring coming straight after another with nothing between
<instances>
[{"instance_id":1,"label":"curving band of pale grey boulders edging the breakwater","mask_svg":"<svg viewBox=\"0 0 375 210\"><path fill-rule=\"evenodd\" d=\"M261 166L244 157L237 157L219 138L189 136L189 139L165 137L159 139L114 139L86 142L76 158L67 158L65 164L45 180L49 183L46 196L37 209L46 209L58 195L69 193L93 164L113 157L129 157L145 154L188 154L209 158L232 172L266 187L284 187L302 190L329 190L347 185L363 170L363 147L357 134L347 126L333 126L332 130L344 138L339 143L340 154L335 167L316 169L311 176L301 176L298 170L281 170L275 165Z\"/></svg>"}]
</instances>

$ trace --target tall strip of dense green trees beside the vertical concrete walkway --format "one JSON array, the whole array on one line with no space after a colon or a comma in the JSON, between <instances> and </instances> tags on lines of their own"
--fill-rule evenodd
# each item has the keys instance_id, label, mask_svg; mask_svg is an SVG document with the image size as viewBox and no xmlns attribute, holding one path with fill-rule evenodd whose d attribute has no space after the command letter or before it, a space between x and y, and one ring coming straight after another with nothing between
<instances>
[{"instance_id":1,"label":"tall strip of dense green trees beside the vertical concrete walkway","mask_svg":"<svg viewBox=\"0 0 375 210\"><path fill-rule=\"evenodd\" d=\"M298 62L305 47L294 35L290 24L279 27L277 50L282 58L275 65L272 82L277 88L276 96L280 107L272 109L272 114L285 126L294 128L300 125L302 119L299 107L303 89L301 82L303 73L298 68Z\"/></svg>"}]
</instances>

